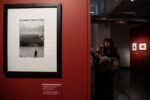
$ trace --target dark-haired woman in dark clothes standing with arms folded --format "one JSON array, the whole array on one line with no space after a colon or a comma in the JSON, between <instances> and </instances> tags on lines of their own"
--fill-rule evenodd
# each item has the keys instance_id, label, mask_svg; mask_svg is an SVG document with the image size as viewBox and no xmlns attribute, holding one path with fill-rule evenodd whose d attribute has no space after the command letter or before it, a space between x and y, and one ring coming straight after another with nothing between
<instances>
[{"instance_id":1,"label":"dark-haired woman in dark clothes standing with arms folded","mask_svg":"<svg viewBox=\"0 0 150 100\"><path fill-rule=\"evenodd\" d=\"M105 38L99 48L99 66L95 68L96 100L113 100L113 70L118 66L117 48L111 38Z\"/></svg>"}]
</instances>

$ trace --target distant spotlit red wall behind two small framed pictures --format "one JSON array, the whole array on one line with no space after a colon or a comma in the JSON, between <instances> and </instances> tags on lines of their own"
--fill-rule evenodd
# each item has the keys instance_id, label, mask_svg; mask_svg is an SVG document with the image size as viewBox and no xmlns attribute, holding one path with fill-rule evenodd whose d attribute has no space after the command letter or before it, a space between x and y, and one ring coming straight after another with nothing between
<instances>
[{"instance_id":1,"label":"distant spotlit red wall behind two small framed pictures","mask_svg":"<svg viewBox=\"0 0 150 100\"><path fill-rule=\"evenodd\" d=\"M131 29L130 48L132 43L137 43L137 51L131 52L131 71L145 76L150 76L150 25L137 26ZM139 44L146 43L147 50L139 50Z\"/></svg>"}]
</instances>

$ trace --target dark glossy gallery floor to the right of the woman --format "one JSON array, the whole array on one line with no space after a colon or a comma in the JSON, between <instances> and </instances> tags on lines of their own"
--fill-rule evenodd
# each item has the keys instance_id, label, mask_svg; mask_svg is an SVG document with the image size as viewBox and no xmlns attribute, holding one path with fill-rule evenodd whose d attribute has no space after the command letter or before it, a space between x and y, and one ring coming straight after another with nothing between
<instances>
[{"instance_id":1,"label":"dark glossy gallery floor to the right of the woman","mask_svg":"<svg viewBox=\"0 0 150 100\"><path fill-rule=\"evenodd\" d=\"M150 100L150 80L130 69L120 69L119 74L114 77L114 100Z\"/></svg>"}]
</instances>

